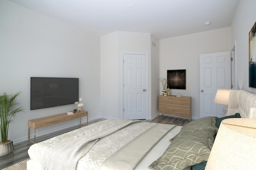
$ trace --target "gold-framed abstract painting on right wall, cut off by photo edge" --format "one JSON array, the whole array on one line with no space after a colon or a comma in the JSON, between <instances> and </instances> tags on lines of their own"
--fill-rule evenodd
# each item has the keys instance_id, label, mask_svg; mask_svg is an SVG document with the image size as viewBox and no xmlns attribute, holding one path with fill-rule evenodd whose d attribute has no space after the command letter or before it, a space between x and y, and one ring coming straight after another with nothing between
<instances>
[{"instance_id":1,"label":"gold-framed abstract painting on right wall, cut off by photo edge","mask_svg":"<svg viewBox=\"0 0 256 170\"><path fill-rule=\"evenodd\" d=\"M249 88L256 88L256 22L249 32Z\"/></svg>"}]
</instances>

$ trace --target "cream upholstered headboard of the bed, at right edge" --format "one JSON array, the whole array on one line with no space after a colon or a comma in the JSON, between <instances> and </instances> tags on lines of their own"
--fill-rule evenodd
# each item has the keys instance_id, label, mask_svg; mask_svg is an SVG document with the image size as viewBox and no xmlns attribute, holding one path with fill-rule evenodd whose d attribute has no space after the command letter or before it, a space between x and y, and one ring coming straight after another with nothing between
<instances>
[{"instance_id":1,"label":"cream upholstered headboard of the bed, at right edge","mask_svg":"<svg viewBox=\"0 0 256 170\"><path fill-rule=\"evenodd\" d=\"M245 90L230 90L227 115L240 113L242 118L250 118L251 107L256 107L256 94Z\"/></svg>"}]
</instances>

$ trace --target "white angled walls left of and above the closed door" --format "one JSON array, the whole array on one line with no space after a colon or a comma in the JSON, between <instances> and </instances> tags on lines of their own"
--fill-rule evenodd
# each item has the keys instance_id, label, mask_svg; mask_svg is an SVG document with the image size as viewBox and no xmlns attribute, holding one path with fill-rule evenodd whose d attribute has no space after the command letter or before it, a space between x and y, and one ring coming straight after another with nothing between
<instances>
[{"instance_id":1,"label":"white angled walls left of and above the closed door","mask_svg":"<svg viewBox=\"0 0 256 170\"><path fill-rule=\"evenodd\" d=\"M100 84L102 116L122 119L122 52L148 53L151 64L151 36L149 33L116 31L100 39ZM157 56L156 56L157 57ZM157 66L158 67L158 66ZM148 77L151 77L149 66ZM106 71L107 70L107 71ZM151 80L151 79L150 79ZM149 87L151 87L149 81ZM150 93L151 89L148 89ZM151 101L149 99L149 101ZM157 107L157 103L154 103ZM149 104L151 107L151 103ZM151 117L151 115L148 115Z\"/></svg>"}]
</instances>

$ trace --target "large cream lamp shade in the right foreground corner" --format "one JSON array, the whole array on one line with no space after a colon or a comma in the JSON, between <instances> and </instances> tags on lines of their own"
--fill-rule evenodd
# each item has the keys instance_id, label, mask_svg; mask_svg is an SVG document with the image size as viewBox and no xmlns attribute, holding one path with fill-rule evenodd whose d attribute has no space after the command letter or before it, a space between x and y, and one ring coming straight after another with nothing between
<instances>
[{"instance_id":1,"label":"large cream lamp shade in the right foreground corner","mask_svg":"<svg viewBox=\"0 0 256 170\"><path fill-rule=\"evenodd\" d=\"M256 168L256 119L224 119L220 124L206 170Z\"/></svg>"}]
</instances>

